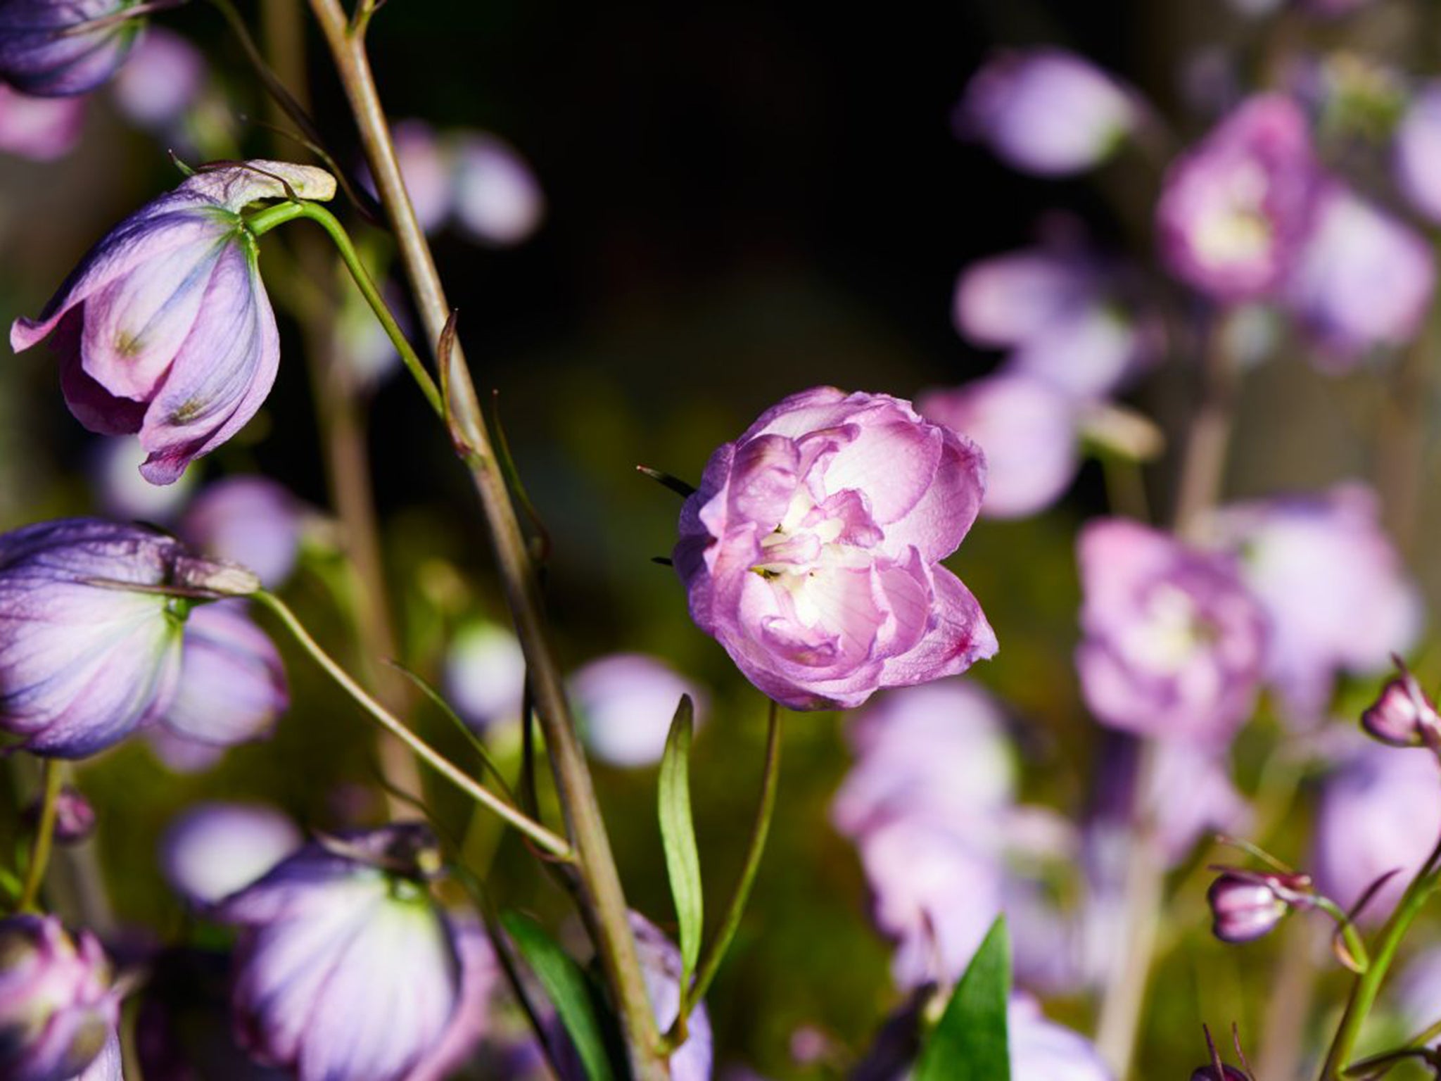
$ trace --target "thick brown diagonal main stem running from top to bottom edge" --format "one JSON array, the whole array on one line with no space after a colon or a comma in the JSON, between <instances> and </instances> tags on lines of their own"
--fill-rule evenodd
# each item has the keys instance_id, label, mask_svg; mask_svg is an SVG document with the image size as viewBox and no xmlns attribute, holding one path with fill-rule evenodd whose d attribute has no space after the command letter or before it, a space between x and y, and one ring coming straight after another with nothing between
<instances>
[{"instance_id":1,"label":"thick brown diagonal main stem running from top to bottom edge","mask_svg":"<svg viewBox=\"0 0 1441 1081\"><path fill-rule=\"evenodd\" d=\"M366 163L370 166L380 205L395 233L396 254L405 268L427 340L435 343L438 349L452 313L435 268L435 258L401 174L391 125L365 48L365 26L357 27L350 23L340 0L310 0L310 10L330 48L336 74L350 104ZM451 372L467 370L458 344L448 352L447 363ZM526 656L526 672L535 690L536 713L545 732L556 796L565 813L566 832L575 846L582 912L595 940L605 980L614 993L631 1072L635 1081L663 1080L667 1077L663 1048L640 969L640 957L635 953L635 940L630 930L625 891L605 833L595 786L571 718L563 673L546 627L535 562L520 530L506 480L494 466L488 431L480 415L478 402L474 401L474 388L464 379L451 379L450 383L452 386L461 383L461 398L457 402L461 409L457 411L457 418L468 435L464 460L486 515L499 577L514 617L516 637L520 639ZM450 427L451 417L445 404L432 399L432 405L437 405L437 412Z\"/></svg>"}]
</instances>

